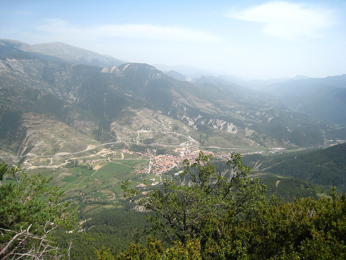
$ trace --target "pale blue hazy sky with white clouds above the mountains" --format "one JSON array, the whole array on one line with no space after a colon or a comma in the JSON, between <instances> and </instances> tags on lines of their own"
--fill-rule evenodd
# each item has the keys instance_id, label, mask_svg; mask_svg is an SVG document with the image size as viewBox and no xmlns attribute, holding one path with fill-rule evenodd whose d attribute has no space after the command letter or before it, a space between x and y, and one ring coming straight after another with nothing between
<instances>
[{"instance_id":1,"label":"pale blue hazy sky with white clouds above the mountains","mask_svg":"<svg viewBox=\"0 0 346 260\"><path fill-rule=\"evenodd\" d=\"M346 73L346 1L0 1L0 38L249 78Z\"/></svg>"}]
</instances>

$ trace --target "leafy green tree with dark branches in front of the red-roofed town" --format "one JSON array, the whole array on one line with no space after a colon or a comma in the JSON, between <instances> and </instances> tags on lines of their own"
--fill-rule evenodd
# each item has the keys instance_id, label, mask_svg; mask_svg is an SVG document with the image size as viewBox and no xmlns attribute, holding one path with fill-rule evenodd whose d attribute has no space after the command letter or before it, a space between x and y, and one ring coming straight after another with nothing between
<instances>
[{"instance_id":1,"label":"leafy green tree with dark branches in front of the red-roofed town","mask_svg":"<svg viewBox=\"0 0 346 260\"><path fill-rule=\"evenodd\" d=\"M165 180L162 190L152 188L147 196L141 196L139 190L124 182L124 197L155 212L155 216L148 217L151 233L163 240L178 239L182 244L189 236L200 236L207 216L217 217L230 211L234 218L246 218L264 200L265 187L258 179L248 177L250 168L242 165L240 154L232 155L227 162L227 173L217 173L212 160L211 155L200 152L194 163L185 161L181 174L184 185Z\"/></svg>"}]
</instances>

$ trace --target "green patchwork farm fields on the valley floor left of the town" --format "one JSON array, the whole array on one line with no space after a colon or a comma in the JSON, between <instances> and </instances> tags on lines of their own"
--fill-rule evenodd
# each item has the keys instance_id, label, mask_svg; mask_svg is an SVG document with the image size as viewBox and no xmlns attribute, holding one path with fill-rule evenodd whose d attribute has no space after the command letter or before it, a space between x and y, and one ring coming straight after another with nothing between
<instances>
[{"instance_id":1,"label":"green patchwork farm fields on the valley floor left of the town","mask_svg":"<svg viewBox=\"0 0 346 260\"><path fill-rule=\"evenodd\" d=\"M131 179L137 179L133 182L135 187L143 180L144 176L135 174L138 168L147 166L148 159L136 155L125 156L128 159L119 159L111 162L100 161L78 165L72 168L36 168L25 171L28 175L40 174L47 179L52 178L48 185L56 185L60 191L65 192L64 200L69 198L86 198L86 199L117 199L122 192L120 183ZM93 168L94 170L90 170ZM157 177L159 179L159 177ZM14 182L8 176L4 182ZM152 183L152 181L150 181Z\"/></svg>"}]
</instances>

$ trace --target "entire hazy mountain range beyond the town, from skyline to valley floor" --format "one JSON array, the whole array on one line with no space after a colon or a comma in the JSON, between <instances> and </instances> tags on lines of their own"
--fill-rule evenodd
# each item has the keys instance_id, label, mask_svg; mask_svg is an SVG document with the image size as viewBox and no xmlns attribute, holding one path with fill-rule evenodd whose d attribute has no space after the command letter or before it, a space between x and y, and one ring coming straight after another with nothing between
<instances>
[{"instance_id":1,"label":"entire hazy mountain range beyond the town, from skyline to valley floor","mask_svg":"<svg viewBox=\"0 0 346 260\"><path fill-rule=\"evenodd\" d=\"M0 40L0 155L107 141L180 145L187 136L201 146L253 150L346 139L345 75L258 89L178 76L64 43Z\"/></svg>"}]
</instances>

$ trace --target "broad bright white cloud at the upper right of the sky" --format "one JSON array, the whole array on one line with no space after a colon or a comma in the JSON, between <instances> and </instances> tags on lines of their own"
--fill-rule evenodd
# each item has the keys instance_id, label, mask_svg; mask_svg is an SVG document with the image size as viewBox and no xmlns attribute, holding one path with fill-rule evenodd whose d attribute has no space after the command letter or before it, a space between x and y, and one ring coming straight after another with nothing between
<instances>
[{"instance_id":1,"label":"broad bright white cloud at the upper right of the sky","mask_svg":"<svg viewBox=\"0 0 346 260\"><path fill-rule=\"evenodd\" d=\"M228 16L263 23L262 32L290 41L322 37L323 29L334 24L332 10L285 1L267 2Z\"/></svg>"}]
</instances>

